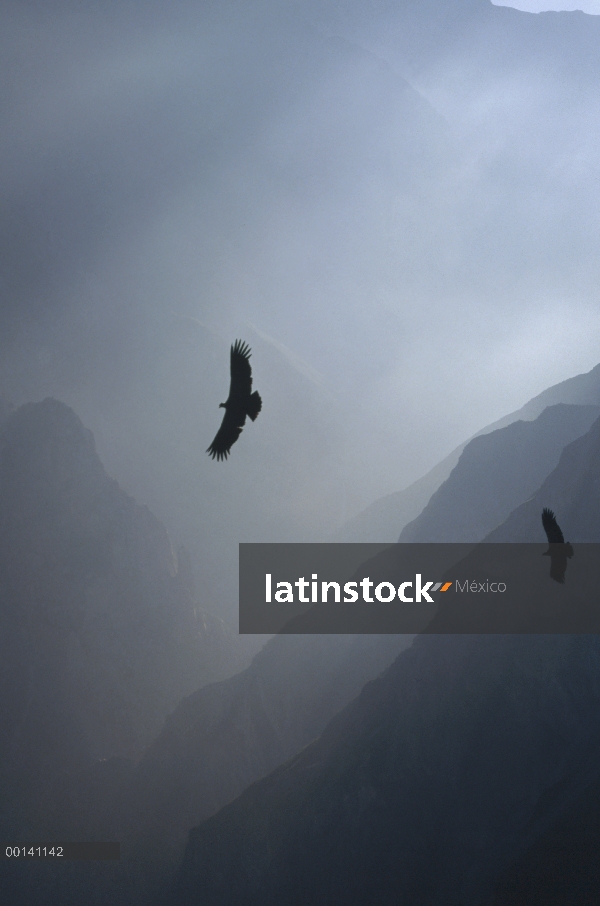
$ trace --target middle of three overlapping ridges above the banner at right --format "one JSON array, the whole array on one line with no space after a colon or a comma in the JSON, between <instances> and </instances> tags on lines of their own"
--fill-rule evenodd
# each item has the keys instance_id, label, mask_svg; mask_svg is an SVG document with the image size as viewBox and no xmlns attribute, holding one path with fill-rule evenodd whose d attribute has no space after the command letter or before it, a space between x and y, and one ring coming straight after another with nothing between
<instances>
[{"instance_id":1,"label":"middle of three overlapping ridges above the banner at right","mask_svg":"<svg viewBox=\"0 0 600 906\"><path fill-rule=\"evenodd\" d=\"M549 406L534 421L517 421L470 441L449 478L401 542L481 541L536 491L566 444L585 434L597 406Z\"/></svg>"}]
</instances>

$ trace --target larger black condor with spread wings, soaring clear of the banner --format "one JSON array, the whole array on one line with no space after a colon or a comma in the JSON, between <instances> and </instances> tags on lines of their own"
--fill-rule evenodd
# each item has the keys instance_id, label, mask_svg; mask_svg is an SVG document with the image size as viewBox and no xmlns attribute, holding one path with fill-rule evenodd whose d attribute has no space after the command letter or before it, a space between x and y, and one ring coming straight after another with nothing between
<instances>
[{"instance_id":1,"label":"larger black condor with spread wings, soaring clear of the banner","mask_svg":"<svg viewBox=\"0 0 600 906\"><path fill-rule=\"evenodd\" d=\"M252 393L250 355L250 347L242 340L236 340L231 347L229 396L224 403L219 403L219 408L225 409L225 415L215 439L206 451L213 459L227 459L229 451L242 433L246 416L249 415L254 421L262 408L258 392L255 390Z\"/></svg>"}]
</instances>

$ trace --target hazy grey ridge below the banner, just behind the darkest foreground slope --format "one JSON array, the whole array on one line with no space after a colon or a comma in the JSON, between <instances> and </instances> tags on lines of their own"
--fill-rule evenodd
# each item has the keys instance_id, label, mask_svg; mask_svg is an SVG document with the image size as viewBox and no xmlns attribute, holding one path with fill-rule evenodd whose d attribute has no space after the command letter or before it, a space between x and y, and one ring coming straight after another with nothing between
<instances>
[{"instance_id":1,"label":"hazy grey ridge below the banner, just behind the darkest foreground slope","mask_svg":"<svg viewBox=\"0 0 600 906\"><path fill-rule=\"evenodd\" d=\"M318 737L411 642L277 636L246 671L186 698L131 781L136 858L174 866L195 824Z\"/></svg>"}]
</instances>

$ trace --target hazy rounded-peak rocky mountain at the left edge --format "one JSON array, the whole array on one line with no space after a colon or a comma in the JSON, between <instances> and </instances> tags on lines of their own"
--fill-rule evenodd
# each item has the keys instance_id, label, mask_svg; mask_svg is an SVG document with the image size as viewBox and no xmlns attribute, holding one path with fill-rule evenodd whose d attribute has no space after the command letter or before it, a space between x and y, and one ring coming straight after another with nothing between
<instances>
[{"instance_id":1,"label":"hazy rounded-peak rocky mountain at the left edge","mask_svg":"<svg viewBox=\"0 0 600 906\"><path fill-rule=\"evenodd\" d=\"M0 594L0 826L12 836L18 803L62 772L138 758L205 677L219 629L198 613L165 528L53 399L3 425Z\"/></svg>"}]
</instances>

